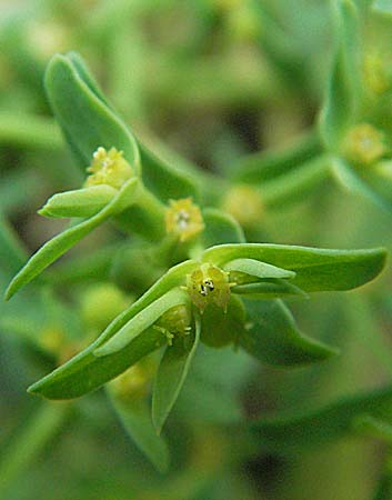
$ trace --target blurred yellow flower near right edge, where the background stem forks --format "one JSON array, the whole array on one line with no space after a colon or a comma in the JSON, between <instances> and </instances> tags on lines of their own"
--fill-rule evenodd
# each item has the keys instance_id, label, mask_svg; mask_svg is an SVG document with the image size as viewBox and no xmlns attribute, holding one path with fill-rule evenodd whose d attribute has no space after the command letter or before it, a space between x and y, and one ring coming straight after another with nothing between
<instances>
[{"instance_id":1,"label":"blurred yellow flower near right edge, where the background stem forks","mask_svg":"<svg viewBox=\"0 0 392 500\"><path fill-rule=\"evenodd\" d=\"M360 123L346 134L343 150L350 160L371 164L386 152L384 134L369 123Z\"/></svg>"}]
</instances>

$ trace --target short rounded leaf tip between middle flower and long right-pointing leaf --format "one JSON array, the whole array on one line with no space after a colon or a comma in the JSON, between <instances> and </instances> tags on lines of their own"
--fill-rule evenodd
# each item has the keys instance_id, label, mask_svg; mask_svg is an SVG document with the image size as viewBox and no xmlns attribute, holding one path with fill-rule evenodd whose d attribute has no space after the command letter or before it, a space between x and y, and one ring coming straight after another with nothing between
<instances>
[{"instance_id":1,"label":"short rounded leaf tip between middle flower and long right-pointing leaf","mask_svg":"<svg viewBox=\"0 0 392 500\"><path fill-rule=\"evenodd\" d=\"M229 213L218 209L203 210L204 231L202 243L204 248L213 244L243 243L245 237L241 226Z\"/></svg>"}]
</instances>

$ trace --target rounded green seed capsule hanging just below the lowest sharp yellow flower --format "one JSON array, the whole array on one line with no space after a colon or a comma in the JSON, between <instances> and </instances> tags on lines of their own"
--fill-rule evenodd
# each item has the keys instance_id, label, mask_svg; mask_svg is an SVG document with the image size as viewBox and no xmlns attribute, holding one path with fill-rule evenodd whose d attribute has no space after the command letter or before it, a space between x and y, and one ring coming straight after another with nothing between
<instances>
[{"instance_id":1,"label":"rounded green seed capsule hanging just below the lowest sharp yellow flower","mask_svg":"<svg viewBox=\"0 0 392 500\"><path fill-rule=\"evenodd\" d=\"M201 316L201 340L207 346L222 348L242 334L245 323L243 302L231 296L228 310L209 304Z\"/></svg>"}]
</instances>

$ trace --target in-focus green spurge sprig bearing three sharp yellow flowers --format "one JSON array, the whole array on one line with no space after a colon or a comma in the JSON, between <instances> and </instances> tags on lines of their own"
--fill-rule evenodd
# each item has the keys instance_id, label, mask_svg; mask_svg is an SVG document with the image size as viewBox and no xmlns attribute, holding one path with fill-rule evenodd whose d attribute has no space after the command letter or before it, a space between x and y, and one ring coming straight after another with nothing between
<instances>
[{"instance_id":1,"label":"in-focus green spurge sprig bearing three sharp yellow flowers","mask_svg":"<svg viewBox=\"0 0 392 500\"><path fill-rule=\"evenodd\" d=\"M233 363L235 349L285 368L335 356L333 347L300 332L282 299L360 287L381 272L385 250L248 243L235 219L205 202L211 186L202 176L162 162L134 137L77 54L53 57L46 87L86 181L54 194L40 210L74 223L30 258L7 298L107 221L137 236L123 252L122 247L107 249L105 259L115 269L112 277L139 298L29 391L73 399L115 379L108 386L114 408L140 448L152 460L161 454L155 463L162 466L165 451L159 438L139 432L140 422L148 428L152 377L152 422L160 432L200 342L211 349L232 344ZM214 182L235 203L230 187ZM89 272L99 274L100 268L91 263ZM158 362L153 353L159 350Z\"/></svg>"}]
</instances>

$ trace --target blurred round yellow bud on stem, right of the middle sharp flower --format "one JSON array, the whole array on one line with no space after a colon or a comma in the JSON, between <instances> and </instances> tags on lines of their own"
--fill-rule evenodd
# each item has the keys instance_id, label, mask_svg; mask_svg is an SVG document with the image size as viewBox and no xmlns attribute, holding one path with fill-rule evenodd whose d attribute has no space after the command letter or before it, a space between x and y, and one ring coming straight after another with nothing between
<instances>
[{"instance_id":1,"label":"blurred round yellow bud on stem, right of the middle sharp flower","mask_svg":"<svg viewBox=\"0 0 392 500\"><path fill-rule=\"evenodd\" d=\"M233 216L243 227L253 227L260 223L264 212L261 196L252 186L234 186L222 202L222 209Z\"/></svg>"}]
</instances>

